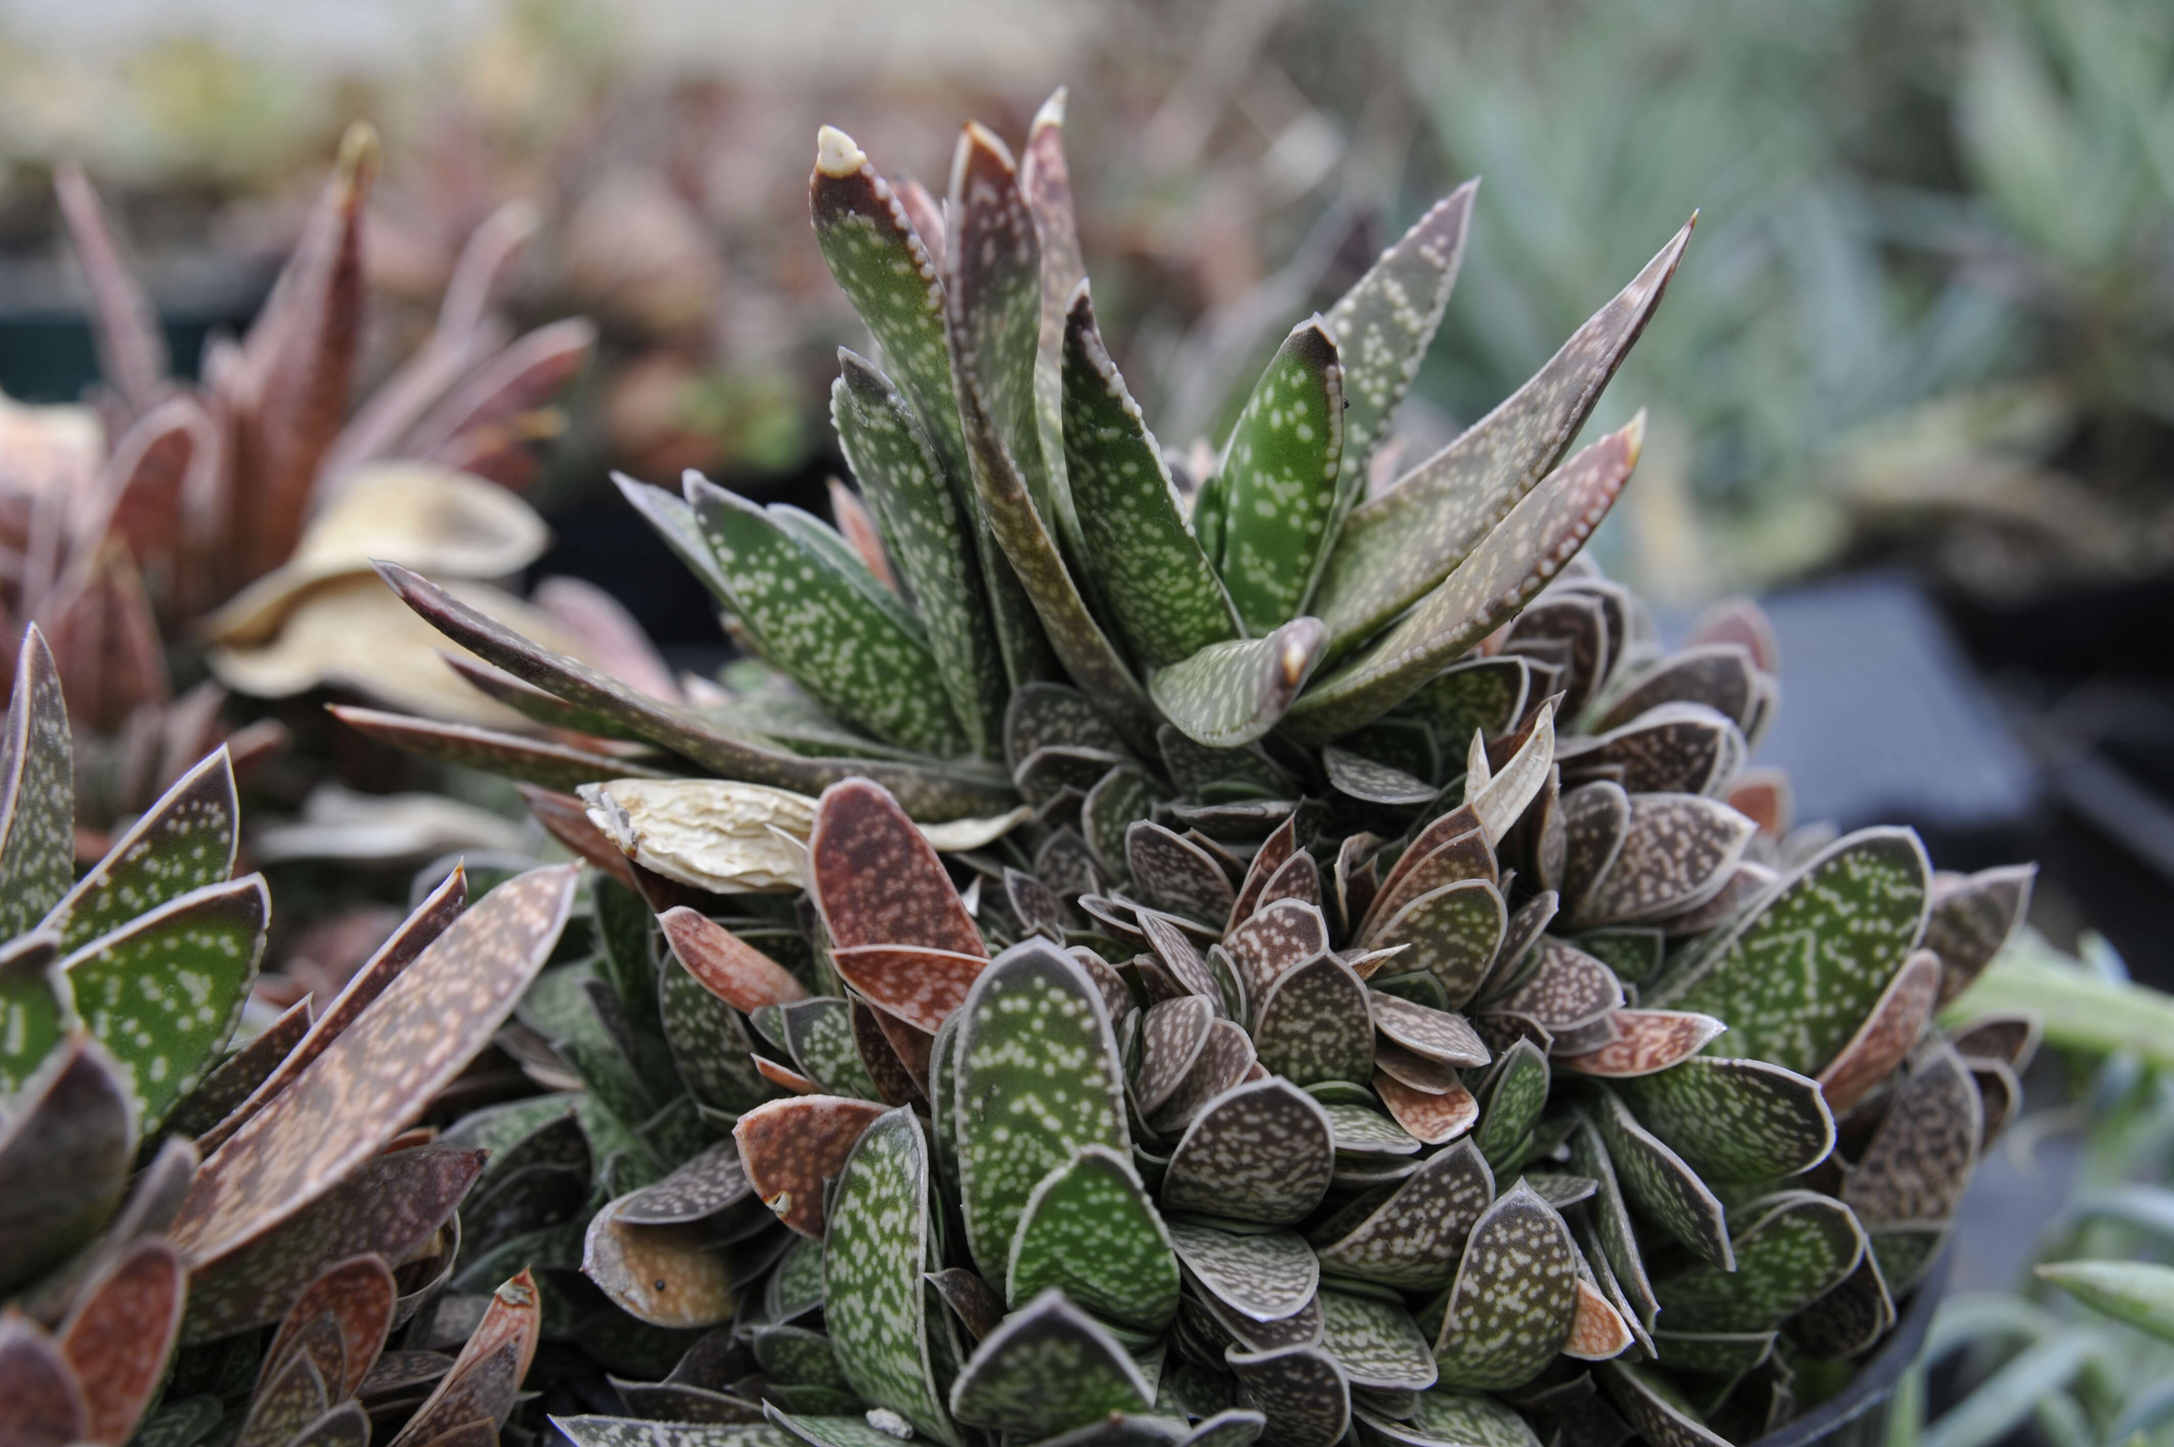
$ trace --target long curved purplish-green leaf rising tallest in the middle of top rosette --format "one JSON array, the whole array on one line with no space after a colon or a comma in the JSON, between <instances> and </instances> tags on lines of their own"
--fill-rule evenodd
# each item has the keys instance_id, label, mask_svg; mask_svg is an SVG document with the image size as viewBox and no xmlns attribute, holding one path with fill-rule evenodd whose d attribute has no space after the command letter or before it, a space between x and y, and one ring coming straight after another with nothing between
<instances>
[{"instance_id":1,"label":"long curved purplish-green leaf rising tallest in the middle of top rosette","mask_svg":"<svg viewBox=\"0 0 2174 1447\"><path fill-rule=\"evenodd\" d=\"M1004 144L967 126L950 191L959 235L944 252L944 313L980 516L1072 681L1144 749L1154 712L1087 611L1039 496L1048 483L1035 409L1041 246Z\"/></svg>"}]
</instances>

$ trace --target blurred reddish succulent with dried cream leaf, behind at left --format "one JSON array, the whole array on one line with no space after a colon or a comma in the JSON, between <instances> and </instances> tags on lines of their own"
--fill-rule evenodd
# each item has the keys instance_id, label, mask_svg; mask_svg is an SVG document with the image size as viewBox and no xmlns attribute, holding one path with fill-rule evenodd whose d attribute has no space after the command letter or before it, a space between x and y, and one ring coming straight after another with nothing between
<instances>
[{"instance_id":1,"label":"blurred reddish succulent with dried cream leaf, behind at left","mask_svg":"<svg viewBox=\"0 0 2174 1447\"><path fill-rule=\"evenodd\" d=\"M350 133L263 316L241 342L211 344L198 387L167 374L157 316L96 194L80 172L61 172L107 385L89 409L11 409L52 442L0 461L13 557L0 607L52 640L87 729L78 766L93 823L141 809L222 733L215 685L174 698L161 629L213 642L213 672L246 692L341 681L430 698L443 670L428 653L415 668L400 651L413 629L380 607L383 590L354 588L367 559L496 579L546 544L509 487L530 477L552 396L580 370L591 329L561 322L509 339L493 318L493 289L533 231L526 213L478 228L430 342L350 418L374 146L367 131ZM483 583L457 585L485 607L520 609ZM533 609L520 616L548 627ZM237 735L237 766L278 738L276 725Z\"/></svg>"}]
</instances>

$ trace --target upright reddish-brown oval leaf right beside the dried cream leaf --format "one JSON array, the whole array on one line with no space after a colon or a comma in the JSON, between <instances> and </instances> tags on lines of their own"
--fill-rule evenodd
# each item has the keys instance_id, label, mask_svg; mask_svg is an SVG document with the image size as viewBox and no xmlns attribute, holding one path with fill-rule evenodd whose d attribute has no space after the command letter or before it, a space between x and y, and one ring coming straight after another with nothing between
<instances>
[{"instance_id":1,"label":"upright reddish-brown oval leaf right beside the dried cream leaf","mask_svg":"<svg viewBox=\"0 0 2174 1447\"><path fill-rule=\"evenodd\" d=\"M809 833L809 881L839 949L917 944L987 953L937 851L898 801L867 779L824 790Z\"/></svg>"}]
</instances>

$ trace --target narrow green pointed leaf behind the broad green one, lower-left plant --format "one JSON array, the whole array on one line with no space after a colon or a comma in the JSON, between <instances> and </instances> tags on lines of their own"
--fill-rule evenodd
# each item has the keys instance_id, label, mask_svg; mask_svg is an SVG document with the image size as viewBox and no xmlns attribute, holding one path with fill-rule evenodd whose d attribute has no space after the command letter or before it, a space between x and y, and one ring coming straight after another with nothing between
<instances>
[{"instance_id":1,"label":"narrow green pointed leaf behind the broad green one, lower-left plant","mask_svg":"<svg viewBox=\"0 0 2174 1447\"><path fill-rule=\"evenodd\" d=\"M235 868L237 816L235 770L222 744L143 809L43 927L74 951L189 890L220 883Z\"/></svg>"}]
</instances>

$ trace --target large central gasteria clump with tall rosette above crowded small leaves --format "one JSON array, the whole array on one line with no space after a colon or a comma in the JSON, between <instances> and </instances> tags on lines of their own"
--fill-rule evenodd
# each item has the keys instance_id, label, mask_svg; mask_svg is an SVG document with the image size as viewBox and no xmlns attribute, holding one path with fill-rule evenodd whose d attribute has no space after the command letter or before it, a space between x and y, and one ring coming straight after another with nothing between
<instances>
[{"instance_id":1,"label":"large central gasteria clump with tall rosette above crowded small leaves","mask_svg":"<svg viewBox=\"0 0 2174 1447\"><path fill-rule=\"evenodd\" d=\"M1061 107L1017 168L970 126L941 218L824 131L865 511L622 483L776 685L665 705L383 570L557 733L350 722L578 788L530 803L600 870L522 1007L585 1092L450 1134L539 1162L470 1271L622 1373L574 1440L1741 1443L1894 1325L2015 1103L1933 1010L2031 873L1789 831L1765 620L1665 651L1576 559L1639 429L1563 453L1687 231L1361 500L1470 198L1180 487Z\"/></svg>"}]
</instances>

